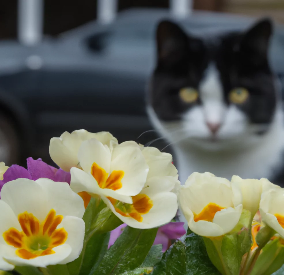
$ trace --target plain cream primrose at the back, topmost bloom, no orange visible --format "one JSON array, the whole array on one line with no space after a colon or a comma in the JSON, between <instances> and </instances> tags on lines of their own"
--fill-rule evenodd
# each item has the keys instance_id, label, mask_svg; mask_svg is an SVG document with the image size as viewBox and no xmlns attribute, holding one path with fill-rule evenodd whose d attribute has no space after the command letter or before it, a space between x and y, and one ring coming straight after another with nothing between
<instances>
[{"instance_id":1,"label":"plain cream primrose at the back, topmost bloom, no orange visible","mask_svg":"<svg viewBox=\"0 0 284 275\"><path fill-rule=\"evenodd\" d=\"M109 132L90 133L86 130L76 130L71 134L64 132L59 138L52 138L49 145L51 159L63 170L69 172L71 167L81 168L78 151L83 141L97 139L112 151L113 145L118 145L117 139Z\"/></svg>"}]
</instances>

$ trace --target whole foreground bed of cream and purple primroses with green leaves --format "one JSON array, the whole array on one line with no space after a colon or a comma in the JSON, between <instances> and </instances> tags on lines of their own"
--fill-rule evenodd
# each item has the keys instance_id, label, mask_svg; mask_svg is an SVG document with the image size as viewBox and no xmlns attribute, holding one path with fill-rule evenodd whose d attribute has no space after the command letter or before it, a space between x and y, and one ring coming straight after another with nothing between
<instances>
[{"instance_id":1,"label":"whole foreground bed of cream and purple primroses with green leaves","mask_svg":"<svg viewBox=\"0 0 284 275\"><path fill-rule=\"evenodd\" d=\"M58 168L0 162L0 273L283 274L284 189L267 179L181 185L170 154L109 132L64 132L49 153Z\"/></svg>"}]
</instances>

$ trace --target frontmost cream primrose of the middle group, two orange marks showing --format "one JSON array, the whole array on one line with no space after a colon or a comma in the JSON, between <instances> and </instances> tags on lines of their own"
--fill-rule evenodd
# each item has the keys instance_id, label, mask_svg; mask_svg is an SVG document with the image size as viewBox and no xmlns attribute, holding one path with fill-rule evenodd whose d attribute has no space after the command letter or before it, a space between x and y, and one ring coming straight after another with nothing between
<instances>
[{"instance_id":1,"label":"frontmost cream primrose of the middle group, two orange marks showing","mask_svg":"<svg viewBox=\"0 0 284 275\"><path fill-rule=\"evenodd\" d=\"M71 168L71 188L85 202L88 196L110 197L132 203L131 196L144 187L149 167L134 141L126 141L111 150L97 139L83 141L78 151L81 169ZM81 192L85 192L82 194Z\"/></svg>"}]
</instances>

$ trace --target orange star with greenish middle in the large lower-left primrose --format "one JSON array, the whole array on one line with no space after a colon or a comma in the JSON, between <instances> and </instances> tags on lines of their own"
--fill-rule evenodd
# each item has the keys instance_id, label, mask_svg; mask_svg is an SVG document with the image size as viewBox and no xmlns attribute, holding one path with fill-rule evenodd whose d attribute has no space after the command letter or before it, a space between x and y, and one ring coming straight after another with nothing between
<instances>
[{"instance_id":1,"label":"orange star with greenish middle in the large lower-left primrose","mask_svg":"<svg viewBox=\"0 0 284 275\"><path fill-rule=\"evenodd\" d=\"M16 255L22 259L33 259L39 256L54 254L52 248L64 244L67 232L64 228L56 229L63 216L56 215L54 209L40 223L33 214L27 211L18 215L22 231L11 227L3 233L5 242L15 248Z\"/></svg>"}]
</instances>

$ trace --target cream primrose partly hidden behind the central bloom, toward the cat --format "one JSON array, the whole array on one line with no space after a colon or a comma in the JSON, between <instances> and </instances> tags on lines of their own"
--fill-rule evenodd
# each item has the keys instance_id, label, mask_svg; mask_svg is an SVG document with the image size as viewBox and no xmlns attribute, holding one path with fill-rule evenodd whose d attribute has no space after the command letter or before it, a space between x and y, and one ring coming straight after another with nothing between
<instances>
[{"instance_id":1,"label":"cream primrose partly hidden behind the central bloom, toward the cat","mask_svg":"<svg viewBox=\"0 0 284 275\"><path fill-rule=\"evenodd\" d=\"M180 185L172 155L154 147L140 145L149 166L144 188L132 203L123 203L111 197L103 198L112 212L134 228L153 228L164 225L176 215L178 204L173 189Z\"/></svg>"}]
</instances>

